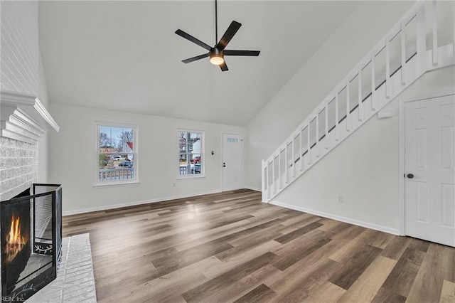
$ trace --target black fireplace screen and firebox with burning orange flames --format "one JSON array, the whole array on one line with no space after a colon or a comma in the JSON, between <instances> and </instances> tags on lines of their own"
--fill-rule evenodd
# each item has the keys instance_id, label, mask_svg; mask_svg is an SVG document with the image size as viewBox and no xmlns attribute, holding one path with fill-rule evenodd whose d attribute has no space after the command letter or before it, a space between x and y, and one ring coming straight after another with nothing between
<instances>
[{"instance_id":1,"label":"black fireplace screen and firebox with burning orange flames","mask_svg":"<svg viewBox=\"0 0 455 303\"><path fill-rule=\"evenodd\" d=\"M57 276L62 188L31 188L0 203L1 302L23 302Z\"/></svg>"}]
</instances>

